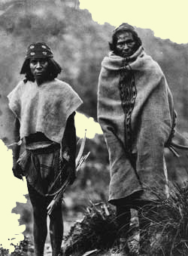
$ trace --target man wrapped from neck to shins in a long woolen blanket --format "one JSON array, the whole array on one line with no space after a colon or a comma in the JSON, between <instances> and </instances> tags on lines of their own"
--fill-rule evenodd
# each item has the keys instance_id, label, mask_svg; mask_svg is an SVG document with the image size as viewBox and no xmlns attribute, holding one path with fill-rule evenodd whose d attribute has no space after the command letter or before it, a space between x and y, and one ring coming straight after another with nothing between
<instances>
[{"instance_id":1,"label":"man wrapped from neck to shins in a long woolen blanket","mask_svg":"<svg viewBox=\"0 0 188 256\"><path fill-rule=\"evenodd\" d=\"M165 76L135 28L121 24L109 45L99 76L98 119L110 160L109 202L117 208L126 254L130 209L156 202L156 193L167 196L164 147L171 144L176 115Z\"/></svg>"}]
</instances>

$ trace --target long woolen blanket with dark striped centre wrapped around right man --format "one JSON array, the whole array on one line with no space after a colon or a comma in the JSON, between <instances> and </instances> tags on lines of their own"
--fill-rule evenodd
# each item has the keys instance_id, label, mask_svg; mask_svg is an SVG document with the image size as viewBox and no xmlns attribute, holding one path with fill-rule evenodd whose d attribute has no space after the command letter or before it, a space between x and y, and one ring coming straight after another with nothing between
<instances>
[{"instance_id":1,"label":"long woolen blanket with dark striped centre wrapped around right man","mask_svg":"<svg viewBox=\"0 0 188 256\"><path fill-rule=\"evenodd\" d=\"M108 147L111 182L109 201L125 199L144 191L141 199L156 199L147 190L165 193L167 173L164 147L174 124L171 91L159 65L138 48L125 66L125 59L110 53L102 61L99 76L98 119ZM136 97L131 113L132 155L127 153L124 130L125 113L120 98L120 73L134 74ZM146 190L145 190L146 188Z\"/></svg>"}]
</instances>

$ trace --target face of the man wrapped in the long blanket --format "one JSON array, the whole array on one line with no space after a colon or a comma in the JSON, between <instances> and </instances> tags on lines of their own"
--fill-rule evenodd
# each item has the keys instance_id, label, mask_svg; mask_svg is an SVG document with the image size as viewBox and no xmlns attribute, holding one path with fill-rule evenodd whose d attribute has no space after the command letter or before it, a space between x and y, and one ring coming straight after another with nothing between
<instances>
[{"instance_id":1,"label":"face of the man wrapped in the long blanket","mask_svg":"<svg viewBox=\"0 0 188 256\"><path fill-rule=\"evenodd\" d=\"M121 57L129 57L136 51L136 42L132 32L122 31L117 34L116 53Z\"/></svg>"}]
</instances>

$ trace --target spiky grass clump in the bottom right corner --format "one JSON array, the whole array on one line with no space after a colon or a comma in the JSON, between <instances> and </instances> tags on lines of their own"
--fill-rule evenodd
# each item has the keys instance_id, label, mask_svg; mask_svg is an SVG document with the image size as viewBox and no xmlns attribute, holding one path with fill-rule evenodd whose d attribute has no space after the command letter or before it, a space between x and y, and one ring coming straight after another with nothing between
<instances>
[{"instance_id":1,"label":"spiky grass clump in the bottom right corner","mask_svg":"<svg viewBox=\"0 0 188 256\"><path fill-rule=\"evenodd\" d=\"M143 251L149 256L188 255L188 186L172 184L168 199L141 210ZM148 246L150 245L150 246Z\"/></svg>"}]
</instances>

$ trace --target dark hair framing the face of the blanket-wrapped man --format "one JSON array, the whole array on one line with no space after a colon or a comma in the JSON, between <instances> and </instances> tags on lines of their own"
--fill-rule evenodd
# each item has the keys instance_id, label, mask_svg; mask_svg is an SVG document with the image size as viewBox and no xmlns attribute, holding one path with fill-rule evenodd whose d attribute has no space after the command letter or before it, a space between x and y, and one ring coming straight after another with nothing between
<instances>
[{"instance_id":1,"label":"dark hair framing the face of the blanket-wrapped man","mask_svg":"<svg viewBox=\"0 0 188 256\"><path fill-rule=\"evenodd\" d=\"M127 31L127 32L132 33L132 38L136 43L135 50L137 50L142 45L141 39L138 37L137 32L135 32L132 29L121 29L121 30L118 30L117 32L115 32L114 35L112 35L112 41L108 42L109 48L110 48L111 51L114 52L114 54L117 54L117 35L120 32L123 32L123 31Z\"/></svg>"}]
</instances>

